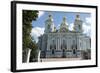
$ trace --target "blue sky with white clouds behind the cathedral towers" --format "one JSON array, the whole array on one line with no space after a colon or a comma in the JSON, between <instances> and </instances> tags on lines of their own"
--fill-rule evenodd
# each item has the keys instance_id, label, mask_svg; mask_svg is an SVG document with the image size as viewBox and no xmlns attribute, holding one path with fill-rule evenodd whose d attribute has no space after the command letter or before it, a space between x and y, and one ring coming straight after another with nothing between
<instances>
[{"instance_id":1,"label":"blue sky with white clouds behind the cathedral towers","mask_svg":"<svg viewBox=\"0 0 100 73\"><path fill-rule=\"evenodd\" d=\"M91 36L91 14L90 13L77 13L77 12L48 12L48 11L39 11L38 18L36 21L32 21L32 33L36 42L38 37L44 33L45 20L48 18L48 15L51 14L54 20L54 24L57 28L62 22L63 17L66 17L66 23L69 26L69 30L73 29L74 20L77 14L80 15L81 20L83 21L83 30L84 34Z\"/></svg>"}]
</instances>

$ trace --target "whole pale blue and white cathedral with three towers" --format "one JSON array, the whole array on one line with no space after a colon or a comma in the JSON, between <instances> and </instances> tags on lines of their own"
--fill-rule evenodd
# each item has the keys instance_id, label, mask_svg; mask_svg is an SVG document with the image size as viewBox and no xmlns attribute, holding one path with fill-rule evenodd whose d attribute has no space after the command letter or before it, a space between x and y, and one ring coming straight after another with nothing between
<instances>
[{"instance_id":1,"label":"whole pale blue and white cathedral with three towers","mask_svg":"<svg viewBox=\"0 0 100 73\"><path fill-rule=\"evenodd\" d=\"M69 30L66 17L57 29L52 15L46 19L44 34L39 37L41 58L80 58L81 52L91 49L91 38L83 34L80 15L76 15L73 30Z\"/></svg>"}]
</instances>

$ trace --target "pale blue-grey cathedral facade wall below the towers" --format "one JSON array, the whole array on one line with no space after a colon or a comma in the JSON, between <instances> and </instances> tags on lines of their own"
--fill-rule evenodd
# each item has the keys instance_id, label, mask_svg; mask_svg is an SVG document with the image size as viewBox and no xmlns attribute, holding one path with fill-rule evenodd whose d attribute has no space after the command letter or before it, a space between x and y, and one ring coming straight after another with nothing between
<instances>
[{"instance_id":1,"label":"pale blue-grey cathedral facade wall below the towers","mask_svg":"<svg viewBox=\"0 0 100 73\"><path fill-rule=\"evenodd\" d=\"M54 43L53 43L54 40ZM63 49L61 49L61 45L63 44L63 40L65 40L65 56L66 57L73 57L75 56L73 54L73 49L72 45L77 45L77 56L81 56L81 51L80 50L85 50L89 47L90 41L89 38L85 38L82 35L74 34L74 33L48 33L46 35L43 35L42 38L42 50L45 51L45 56L47 58L49 57L61 57L63 54ZM47 42L46 42L47 41ZM75 41L75 42L73 42ZM59 42L59 43L58 43ZM81 43L81 45L80 45ZM56 45L56 48L54 48L54 53L52 54L52 49L50 49L50 45Z\"/></svg>"}]
</instances>

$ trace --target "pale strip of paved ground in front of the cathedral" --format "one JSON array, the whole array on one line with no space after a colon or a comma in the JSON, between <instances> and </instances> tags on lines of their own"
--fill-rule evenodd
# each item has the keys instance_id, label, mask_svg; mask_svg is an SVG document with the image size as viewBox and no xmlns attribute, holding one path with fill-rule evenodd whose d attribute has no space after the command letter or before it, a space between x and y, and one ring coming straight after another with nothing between
<instances>
[{"instance_id":1,"label":"pale strip of paved ground in front of the cathedral","mask_svg":"<svg viewBox=\"0 0 100 73\"><path fill-rule=\"evenodd\" d=\"M41 59L42 62L49 62L49 61L73 61L73 60L81 60L81 58L46 58L46 59Z\"/></svg>"}]
</instances>

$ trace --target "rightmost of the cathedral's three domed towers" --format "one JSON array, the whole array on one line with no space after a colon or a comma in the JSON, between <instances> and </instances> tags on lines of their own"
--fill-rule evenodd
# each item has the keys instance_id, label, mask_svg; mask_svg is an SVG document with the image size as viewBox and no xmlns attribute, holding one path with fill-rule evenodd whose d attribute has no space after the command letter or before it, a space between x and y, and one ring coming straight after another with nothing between
<instances>
[{"instance_id":1,"label":"rightmost of the cathedral's three domed towers","mask_svg":"<svg viewBox=\"0 0 100 73\"><path fill-rule=\"evenodd\" d=\"M83 21L80 19L79 15L76 15L75 22L74 22L74 31L82 33L82 23Z\"/></svg>"}]
</instances>

